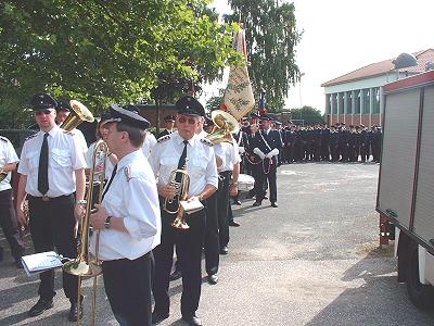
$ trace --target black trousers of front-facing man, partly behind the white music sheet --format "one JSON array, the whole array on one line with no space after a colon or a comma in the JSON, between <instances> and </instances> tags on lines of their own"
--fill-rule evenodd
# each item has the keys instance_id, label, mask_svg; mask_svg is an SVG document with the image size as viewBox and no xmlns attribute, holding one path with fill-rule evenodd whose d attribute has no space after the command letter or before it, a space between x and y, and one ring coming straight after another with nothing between
<instances>
[{"instance_id":1,"label":"black trousers of front-facing man, partly behind the white music sheet","mask_svg":"<svg viewBox=\"0 0 434 326\"><path fill-rule=\"evenodd\" d=\"M30 234L35 252L55 249L65 258L77 256L77 240L74 238L74 196L63 196L50 201L28 197ZM54 271L40 274L39 296L51 300L55 296ZM71 301L77 300L78 279L63 272L63 290Z\"/></svg>"}]
</instances>

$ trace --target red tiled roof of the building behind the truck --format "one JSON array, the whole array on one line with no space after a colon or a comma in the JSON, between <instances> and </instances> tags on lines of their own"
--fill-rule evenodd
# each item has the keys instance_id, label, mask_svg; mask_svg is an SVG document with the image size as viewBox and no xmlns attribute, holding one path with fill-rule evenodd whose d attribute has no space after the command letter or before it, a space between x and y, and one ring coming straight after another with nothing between
<instances>
[{"instance_id":1,"label":"red tiled roof of the building behind the truck","mask_svg":"<svg viewBox=\"0 0 434 326\"><path fill-rule=\"evenodd\" d=\"M427 62L434 63L434 50L433 49L419 51L419 52L413 53L413 55L418 60L418 65L399 70L400 72L407 71L407 72L413 73L413 74L423 73L425 71L425 64ZM388 60L384 60L381 62L376 62L376 63L372 63L370 65L363 66L357 71L350 72L341 77L326 82L326 83L321 84L321 87L328 87L328 86L333 86L333 85L339 85L339 84L344 84L344 83L348 83L348 82L366 79L366 78L387 74L394 70L394 64L392 63L392 61L394 59L388 59Z\"/></svg>"}]
</instances>

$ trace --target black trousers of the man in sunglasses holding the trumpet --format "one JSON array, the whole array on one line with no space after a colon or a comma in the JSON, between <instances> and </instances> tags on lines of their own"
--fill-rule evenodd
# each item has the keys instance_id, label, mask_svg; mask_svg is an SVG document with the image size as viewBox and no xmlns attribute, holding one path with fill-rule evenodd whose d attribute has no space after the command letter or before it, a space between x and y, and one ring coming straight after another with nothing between
<instances>
[{"instance_id":1,"label":"black trousers of the man in sunglasses holding the trumpet","mask_svg":"<svg viewBox=\"0 0 434 326\"><path fill-rule=\"evenodd\" d=\"M189 229L177 229L170 225L175 214L162 210L162 240L154 248L155 277L152 284L155 306L154 312L169 312L169 275L174 258L174 244L177 246L179 263L182 266L181 313L191 317L199 308L202 285L202 247L205 236L205 210L186 215Z\"/></svg>"}]
</instances>

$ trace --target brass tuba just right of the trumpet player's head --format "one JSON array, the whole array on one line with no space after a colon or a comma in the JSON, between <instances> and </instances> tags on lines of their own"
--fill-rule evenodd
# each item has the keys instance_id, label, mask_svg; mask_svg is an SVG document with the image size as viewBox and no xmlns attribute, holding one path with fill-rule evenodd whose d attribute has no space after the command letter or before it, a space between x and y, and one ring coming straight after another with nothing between
<instances>
[{"instance_id":1,"label":"brass tuba just right of the trumpet player's head","mask_svg":"<svg viewBox=\"0 0 434 326\"><path fill-rule=\"evenodd\" d=\"M213 130L205 138L213 143L233 141L232 134L240 130L238 121L228 112L215 110L210 113L214 123Z\"/></svg>"}]
</instances>

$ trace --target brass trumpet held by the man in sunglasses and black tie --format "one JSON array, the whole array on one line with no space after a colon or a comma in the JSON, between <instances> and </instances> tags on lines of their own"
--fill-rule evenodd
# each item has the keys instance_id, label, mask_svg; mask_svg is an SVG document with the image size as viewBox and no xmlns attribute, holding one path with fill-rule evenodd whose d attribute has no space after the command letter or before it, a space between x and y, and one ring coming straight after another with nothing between
<instances>
[{"instance_id":1,"label":"brass trumpet held by the man in sunglasses and black tie","mask_svg":"<svg viewBox=\"0 0 434 326\"><path fill-rule=\"evenodd\" d=\"M180 176L179 180L177 180L177 176ZM188 229L190 226L186 223L186 212L181 205L181 201L187 200L190 188L190 175L187 173L187 159L182 168L177 168L170 173L169 185L175 186L175 197L164 200L163 210L169 214L177 214L171 223L173 227Z\"/></svg>"}]
</instances>

